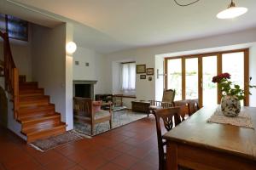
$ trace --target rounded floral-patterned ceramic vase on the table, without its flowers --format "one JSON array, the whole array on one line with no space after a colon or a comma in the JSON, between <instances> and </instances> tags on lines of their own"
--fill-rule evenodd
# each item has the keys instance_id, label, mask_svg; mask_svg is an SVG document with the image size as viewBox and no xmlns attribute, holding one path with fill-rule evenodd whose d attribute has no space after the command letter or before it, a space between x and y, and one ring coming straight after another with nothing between
<instances>
[{"instance_id":1,"label":"rounded floral-patterned ceramic vase on the table, without its flowers","mask_svg":"<svg viewBox=\"0 0 256 170\"><path fill-rule=\"evenodd\" d=\"M221 111L224 116L238 116L241 111L241 102L234 96L223 96L221 99Z\"/></svg>"}]
</instances>

